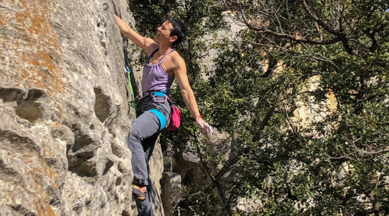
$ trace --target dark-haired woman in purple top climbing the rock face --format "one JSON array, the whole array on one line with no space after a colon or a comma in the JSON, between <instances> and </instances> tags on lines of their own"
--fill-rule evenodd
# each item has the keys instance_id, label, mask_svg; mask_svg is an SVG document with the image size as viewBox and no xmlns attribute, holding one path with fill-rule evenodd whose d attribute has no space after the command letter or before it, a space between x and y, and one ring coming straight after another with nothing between
<instances>
[{"instance_id":1,"label":"dark-haired woman in purple top climbing the rock face","mask_svg":"<svg viewBox=\"0 0 389 216\"><path fill-rule=\"evenodd\" d=\"M147 51L148 58L143 66L142 100L137 106L137 118L127 138L132 152L134 181L132 193L140 216L152 216L152 186L149 178L148 161L162 129L169 125L171 106L168 95L174 78L177 78L185 105L201 128L201 133L210 133L212 127L202 119L192 88L189 84L184 59L173 49L187 33L184 23L176 18L169 19L157 28L155 40L135 32L117 17L120 32L135 45Z\"/></svg>"}]
</instances>

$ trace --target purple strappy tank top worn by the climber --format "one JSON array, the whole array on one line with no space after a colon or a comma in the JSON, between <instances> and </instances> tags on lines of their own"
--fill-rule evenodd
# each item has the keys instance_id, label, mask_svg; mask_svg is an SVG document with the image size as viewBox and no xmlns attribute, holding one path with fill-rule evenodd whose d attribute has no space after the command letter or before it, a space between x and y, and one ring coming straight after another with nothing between
<instances>
[{"instance_id":1,"label":"purple strappy tank top worn by the climber","mask_svg":"<svg viewBox=\"0 0 389 216\"><path fill-rule=\"evenodd\" d=\"M142 74L143 92L156 90L170 91L170 88L172 87L174 77L169 76L169 74L163 69L161 62L167 55L169 55L174 50L171 50L166 55L164 55L156 65L149 65L151 56L153 56L154 53L158 50L159 49L154 50L144 63Z\"/></svg>"}]
</instances>

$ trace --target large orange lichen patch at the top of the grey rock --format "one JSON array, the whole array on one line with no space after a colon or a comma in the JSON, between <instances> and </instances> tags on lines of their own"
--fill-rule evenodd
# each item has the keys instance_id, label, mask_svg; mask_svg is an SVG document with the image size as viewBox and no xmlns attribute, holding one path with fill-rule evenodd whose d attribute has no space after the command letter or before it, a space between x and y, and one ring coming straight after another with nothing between
<instances>
[{"instance_id":1,"label":"large orange lichen patch at the top of the grey rock","mask_svg":"<svg viewBox=\"0 0 389 216\"><path fill-rule=\"evenodd\" d=\"M65 75L57 64L62 51L51 25L52 2L19 0L16 4L12 0L5 1L15 6L15 10L9 12L13 13L13 19L7 23L8 28L23 34L4 42L6 51L19 63L11 66L14 73L18 73L13 78L14 83L26 88L45 89L49 97L63 93L66 83L63 81Z\"/></svg>"}]
</instances>

